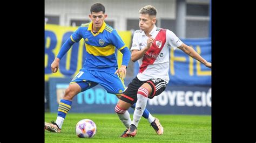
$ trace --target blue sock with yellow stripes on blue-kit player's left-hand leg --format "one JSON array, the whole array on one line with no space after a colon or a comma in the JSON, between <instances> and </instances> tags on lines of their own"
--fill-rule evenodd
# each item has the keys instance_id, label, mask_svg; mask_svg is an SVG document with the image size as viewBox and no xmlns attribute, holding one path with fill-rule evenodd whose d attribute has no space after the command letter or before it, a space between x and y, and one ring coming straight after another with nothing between
<instances>
[{"instance_id":1,"label":"blue sock with yellow stripes on blue-kit player's left-hand leg","mask_svg":"<svg viewBox=\"0 0 256 143\"><path fill-rule=\"evenodd\" d=\"M65 119L66 114L69 112L71 108L72 101L68 101L65 99L60 99L59 108L58 108L58 116Z\"/></svg>"}]
</instances>

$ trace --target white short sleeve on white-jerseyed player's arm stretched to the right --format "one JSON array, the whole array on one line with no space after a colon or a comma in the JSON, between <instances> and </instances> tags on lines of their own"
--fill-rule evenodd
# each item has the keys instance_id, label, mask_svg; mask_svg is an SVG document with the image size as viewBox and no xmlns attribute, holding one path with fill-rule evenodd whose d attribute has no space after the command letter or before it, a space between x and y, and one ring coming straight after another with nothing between
<instances>
[{"instance_id":1,"label":"white short sleeve on white-jerseyed player's arm stretched to the right","mask_svg":"<svg viewBox=\"0 0 256 143\"><path fill-rule=\"evenodd\" d=\"M176 36L176 34L170 30L166 31L166 37L167 42L172 46L173 49L176 49L177 47L181 46L181 44L183 44L183 42Z\"/></svg>"}]
</instances>

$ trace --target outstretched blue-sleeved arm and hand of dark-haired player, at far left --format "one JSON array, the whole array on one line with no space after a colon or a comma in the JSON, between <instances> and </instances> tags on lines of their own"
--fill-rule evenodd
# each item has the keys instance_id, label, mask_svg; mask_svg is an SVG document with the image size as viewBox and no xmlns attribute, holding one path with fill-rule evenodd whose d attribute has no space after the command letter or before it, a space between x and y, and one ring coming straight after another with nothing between
<instances>
[{"instance_id":1,"label":"outstretched blue-sleeved arm and hand of dark-haired player, at far left","mask_svg":"<svg viewBox=\"0 0 256 143\"><path fill-rule=\"evenodd\" d=\"M62 59L62 57L69 51L71 46L75 42L79 42L80 39L82 39L82 37L79 35L79 32L80 32L80 27L78 28L78 30L76 30L70 36L70 38L68 40L65 41L65 43L60 48L60 51L59 51L58 55L56 56L55 60L51 63L51 71L52 71L52 73L56 73L58 71L60 59Z\"/></svg>"}]
</instances>

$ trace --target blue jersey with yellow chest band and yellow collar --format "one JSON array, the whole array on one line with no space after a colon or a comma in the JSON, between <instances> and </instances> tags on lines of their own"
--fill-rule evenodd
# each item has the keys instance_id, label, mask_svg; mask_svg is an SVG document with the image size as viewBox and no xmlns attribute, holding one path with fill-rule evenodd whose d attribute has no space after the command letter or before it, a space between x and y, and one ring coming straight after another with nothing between
<instances>
[{"instance_id":1,"label":"blue jersey with yellow chest band and yellow collar","mask_svg":"<svg viewBox=\"0 0 256 143\"><path fill-rule=\"evenodd\" d=\"M105 22L97 33L92 32L92 22L82 24L72 35L73 42L84 39L86 60L83 68L91 70L114 70L118 68L115 47L125 48L117 31Z\"/></svg>"}]
</instances>

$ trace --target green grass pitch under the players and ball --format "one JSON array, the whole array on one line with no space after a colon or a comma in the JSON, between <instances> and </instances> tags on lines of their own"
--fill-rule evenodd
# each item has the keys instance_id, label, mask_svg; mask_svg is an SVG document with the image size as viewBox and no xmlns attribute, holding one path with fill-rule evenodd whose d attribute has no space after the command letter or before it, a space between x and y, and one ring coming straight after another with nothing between
<instances>
[{"instance_id":1,"label":"green grass pitch under the players and ball","mask_svg":"<svg viewBox=\"0 0 256 143\"><path fill-rule=\"evenodd\" d=\"M120 138L125 127L115 114L69 113L60 133L45 130L45 142L211 142L211 116L154 116L164 127L163 135L157 135L142 117L134 138ZM55 121L56 117L57 113L45 113L46 122ZM85 118L95 121L97 125L97 133L90 139L78 138L75 133L76 123Z\"/></svg>"}]
</instances>

